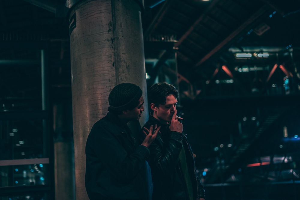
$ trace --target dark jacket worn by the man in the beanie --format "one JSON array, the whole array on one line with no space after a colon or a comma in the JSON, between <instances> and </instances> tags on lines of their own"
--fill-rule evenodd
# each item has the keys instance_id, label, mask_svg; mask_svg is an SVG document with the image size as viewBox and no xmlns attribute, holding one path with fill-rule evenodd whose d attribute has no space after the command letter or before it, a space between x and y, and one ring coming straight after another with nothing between
<instances>
[{"instance_id":1,"label":"dark jacket worn by the man in the beanie","mask_svg":"<svg viewBox=\"0 0 300 200\"><path fill-rule=\"evenodd\" d=\"M131 135L110 112L92 127L85 146L85 188L91 200L146 199L144 170L150 153Z\"/></svg>"}]
</instances>

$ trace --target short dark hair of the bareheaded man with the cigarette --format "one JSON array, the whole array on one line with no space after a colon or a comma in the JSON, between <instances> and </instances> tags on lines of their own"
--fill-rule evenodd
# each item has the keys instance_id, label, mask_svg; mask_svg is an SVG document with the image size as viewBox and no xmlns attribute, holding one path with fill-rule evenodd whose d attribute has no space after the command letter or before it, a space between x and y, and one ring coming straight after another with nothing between
<instances>
[{"instance_id":1,"label":"short dark hair of the bareheaded man with the cigarette","mask_svg":"<svg viewBox=\"0 0 300 200\"><path fill-rule=\"evenodd\" d=\"M178 90L174 85L167 82L155 83L149 88L148 91L148 103L154 103L155 105L164 105L166 103L166 97L173 94L177 99L179 98Z\"/></svg>"}]
</instances>

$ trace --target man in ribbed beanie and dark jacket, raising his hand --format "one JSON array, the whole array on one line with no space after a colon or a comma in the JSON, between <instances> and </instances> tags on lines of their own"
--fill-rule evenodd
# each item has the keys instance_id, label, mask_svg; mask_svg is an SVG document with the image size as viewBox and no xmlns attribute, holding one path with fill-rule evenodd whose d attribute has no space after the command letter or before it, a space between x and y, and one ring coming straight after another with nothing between
<instances>
[{"instance_id":1,"label":"man in ribbed beanie and dark jacket, raising his hand","mask_svg":"<svg viewBox=\"0 0 300 200\"><path fill-rule=\"evenodd\" d=\"M116 85L108 97L107 115L97 121L85 146L85 188L90 200L147 200L151 194L146 185L146 159L149 145L160 129L144 129L145 139L139 144L127 126L140 119L144 99L139 86Z\"/></svg>"}]
</instances>

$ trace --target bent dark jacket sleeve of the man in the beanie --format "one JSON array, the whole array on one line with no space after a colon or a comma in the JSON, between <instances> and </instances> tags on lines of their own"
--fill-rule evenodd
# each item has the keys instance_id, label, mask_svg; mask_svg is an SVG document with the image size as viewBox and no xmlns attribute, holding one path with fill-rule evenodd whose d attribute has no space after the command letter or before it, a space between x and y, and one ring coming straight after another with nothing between
<instances>
[{"instance_id":1,"label":"bent dark jacket sleeve of the man in the beanie","mask_svg":"<svg viewBox=\"0 0 300 200\"><path fill-rule=\"evenodd\" d=\"M142 145L128 154L124 144L104 127L92 128L85 148L89 166L93 166L95 171L104 167L120 181L133 180L150 154L149 149Z\"/></svg>"}]
</instances>

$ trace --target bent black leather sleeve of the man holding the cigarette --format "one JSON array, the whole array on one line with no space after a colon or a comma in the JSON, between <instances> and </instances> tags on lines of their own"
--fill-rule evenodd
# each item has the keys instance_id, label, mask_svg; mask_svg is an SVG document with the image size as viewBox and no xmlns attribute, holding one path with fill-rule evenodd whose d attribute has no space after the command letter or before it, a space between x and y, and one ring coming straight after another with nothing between
<instances>
[{"instance_id":1,"label":"bent black leather sleeve of the man holding the cigarette","mask_svg":"<svg viewBox=\"0 0 300 200\"><path fill-rule=\"evenodd\" d=\"M175 170L179 162L179 153L183 147L182 139L182 133L172 131L168 141L164 141L162 144L160 137L158 137L149 146L150 163L152 166L155 165L154 167L158 170L158 173L166 175Z\"/></svg>"}]
</instances>

